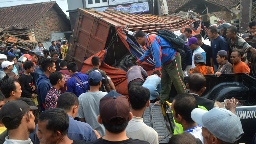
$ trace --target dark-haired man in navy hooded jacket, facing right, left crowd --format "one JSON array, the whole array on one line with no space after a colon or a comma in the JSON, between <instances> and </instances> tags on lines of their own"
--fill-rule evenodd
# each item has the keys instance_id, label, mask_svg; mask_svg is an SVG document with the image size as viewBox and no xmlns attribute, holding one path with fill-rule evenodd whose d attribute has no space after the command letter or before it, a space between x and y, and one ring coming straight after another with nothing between
<instances>
[{"instance_id":1,"label":"dark-haired man in navy hooded jacket, facing right, left crowd","mask_svg":"<svg viewBox=\"0 0 256 144\"><path fill-rule=\"evenodd\" d=\"M51 73L56 71L55 62L53 59L45 58L41 62L41 67L44 70L44 74L41 74L37 79L37 86L38 86L37 93L38 93L40 111L44 111L45 110L44 100L48 91L52 87L49 77Z\"/></svg>"}]
</instances>

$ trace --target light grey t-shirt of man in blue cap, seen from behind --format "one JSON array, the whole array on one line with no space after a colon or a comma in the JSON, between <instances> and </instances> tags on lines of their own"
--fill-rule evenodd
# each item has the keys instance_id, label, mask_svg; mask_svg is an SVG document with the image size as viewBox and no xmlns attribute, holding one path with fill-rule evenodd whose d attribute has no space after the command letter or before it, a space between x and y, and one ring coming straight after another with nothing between
<instances>
[{"instance_id":1,"label":"light grey t-shirt of man in blue cap, seen from behind","mask_svg":"<svg viewBox=\"0 0 256 144\"><path fill-rule=\"evenodd\" d=\"M108 92L85 92L78 97L77 117L84 118L87 124L99 132L101 137L105 135L105 127L98 123L97 117L100 115L100 99L106 94Z\"/></svg>"}]
</instances>

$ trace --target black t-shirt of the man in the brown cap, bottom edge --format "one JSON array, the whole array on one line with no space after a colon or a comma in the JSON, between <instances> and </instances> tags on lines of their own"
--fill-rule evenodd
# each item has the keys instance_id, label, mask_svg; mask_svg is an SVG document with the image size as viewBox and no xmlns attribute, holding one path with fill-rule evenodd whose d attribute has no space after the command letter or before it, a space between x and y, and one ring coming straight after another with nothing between
<instances>
[{"instance_id":1,"label":"black t-shirt of the man in the brown cap, bottom edge","mask_svg":"<svg viewBox=\"0 0 256 144\"><path fill-rule=\"evenodd\" d=\"M144 140L132 139L132 138L129 138L128 140L123 140L123 141L108 141L108 140L102 139L101 137L98 140L88 142L88 144L149 144L149 142Z\"/></svg>"}]
</instances>

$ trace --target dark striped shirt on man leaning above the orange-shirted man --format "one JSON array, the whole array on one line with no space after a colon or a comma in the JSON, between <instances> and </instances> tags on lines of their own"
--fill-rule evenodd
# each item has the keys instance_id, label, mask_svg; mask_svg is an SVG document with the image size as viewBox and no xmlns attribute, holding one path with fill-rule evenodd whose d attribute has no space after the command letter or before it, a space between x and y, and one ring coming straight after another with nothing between
<instances>
[{"instance_id":1,"label":"dark striped shirt on man leaning above the orange-shirted man","mask_svg":"<svg viewBox=\"0 0 256 144\"><path fill-rule=\"evenodd\" d=\"M242 54L242 61L247 64L247 52L252 49L252 46L249 45L242 37L236 36L236 40L231 44L231 40L228 39L228 46L231 52L239 51Z\"/></svg>"}]
</instances>

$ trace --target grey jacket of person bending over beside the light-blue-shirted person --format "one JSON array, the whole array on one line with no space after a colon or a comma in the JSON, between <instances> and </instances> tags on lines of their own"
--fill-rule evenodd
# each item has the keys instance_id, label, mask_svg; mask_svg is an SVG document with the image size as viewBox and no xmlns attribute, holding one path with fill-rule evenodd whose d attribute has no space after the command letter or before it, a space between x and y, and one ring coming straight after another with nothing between
<instances>
[{"instance_id":1,"label":"grey jacket of person bending over beside the light-blue-shirted person","mask_svg":"<svg viewBox=\"0 0 256 144\"><path fill-rule=\"evenodd\" d=\"M132 80L140 78L144 82L144 78L141 76L143 75L145 78L148 77L146 70L144 70L141 66L133 66L131 67L126 74L127 77L127 86Z\"/></svg>"}]
</instances>

